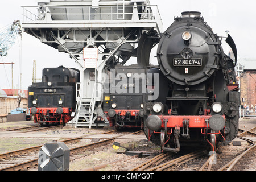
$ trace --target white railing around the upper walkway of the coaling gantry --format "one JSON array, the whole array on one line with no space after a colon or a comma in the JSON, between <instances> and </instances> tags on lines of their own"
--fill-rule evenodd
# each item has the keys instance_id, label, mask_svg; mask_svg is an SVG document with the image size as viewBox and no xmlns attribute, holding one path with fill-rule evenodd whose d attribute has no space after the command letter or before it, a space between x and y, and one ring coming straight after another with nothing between
<instances>
[{"instance_id":1,"label":"white railing around the upper walkway of the coaling gantry","mask_svg":"<svg viewBox=\"0 0 256 182\"><path fill-rule=\"evenodd\" d=\"M118 6L99 6L98 8L92 6L22 6L23 22L42 21L46 19L47 14L51 15L53 21L133 20L133 16L136 15L133 14L133 10L136 8L139 20L156 20L163 24L156 5L125 5L123 7L123 12L118 13ZM121 15L123 15L122 19L120 19Z\"/></svg>"}]
</instances>

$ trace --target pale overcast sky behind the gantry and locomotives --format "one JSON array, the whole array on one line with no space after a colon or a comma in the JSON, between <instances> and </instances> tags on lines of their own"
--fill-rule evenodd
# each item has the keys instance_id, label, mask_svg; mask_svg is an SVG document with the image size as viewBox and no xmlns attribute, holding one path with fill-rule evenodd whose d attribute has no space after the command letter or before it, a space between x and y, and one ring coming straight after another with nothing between
<instances>
[{"instance_id":1,"label":"pale overcast sky behind the gantry and locomotives","mask_svg":"<svg viewBox=\"0 0 256 182\"><path fill-rule=\"evenodd\" d=\"M8 0L0 6L0 28L13 23L14 20L23 22L23 9L21 6L36 6L36 0ZM151 5L158 5L163 20L163 31L168 28L174 17L181 16L183 11L200 11L205 22L212 27L218 36L225 36L226 30L234 39L237 46L238 58L255 59L256 42L256 11L254 0L183 0L183 1L160 1L150 0ZM20 59L20 45L22 54ZM226 48L225 44L223 45ZM42 69L45 67L77 67L75 61L69 59L69 55L59 53L52 47L41 43L38 39L23 32L22 43L16 40L10 48L7 57L0 58L0 62L15 62L14 64L14 87L19 83L19 60L22 61L22 88L27 89L32 82L32 63L36 60L36 77L41 78ZM11 65L0 65L0 88L11 88Z\"/></svg>"}]
</instances>

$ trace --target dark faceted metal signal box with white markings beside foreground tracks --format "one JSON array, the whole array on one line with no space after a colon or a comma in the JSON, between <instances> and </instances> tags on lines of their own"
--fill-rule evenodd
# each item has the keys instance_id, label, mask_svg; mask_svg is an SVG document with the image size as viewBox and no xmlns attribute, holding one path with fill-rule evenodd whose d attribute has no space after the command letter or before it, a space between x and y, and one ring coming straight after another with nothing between
<instances>
[{"instance_id":1,"label":"dark faceted metal signal box with white markings beside foreground tracks","mask_svg":"<svg viewBox=\"0 0 256 182\"><path fill-rule=\"evenodd\" d=\"M39 150L38 171L68 171L69 148L63 142L49 142Z\"/></svg>"}]
</instances>

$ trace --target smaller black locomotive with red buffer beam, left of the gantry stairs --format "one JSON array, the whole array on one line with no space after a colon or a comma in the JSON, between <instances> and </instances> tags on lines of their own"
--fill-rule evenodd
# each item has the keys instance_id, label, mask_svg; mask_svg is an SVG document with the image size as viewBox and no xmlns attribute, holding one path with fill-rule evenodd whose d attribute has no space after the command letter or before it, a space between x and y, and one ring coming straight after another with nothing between
<instances>
[{"instance_id":1,"label":"smaller black locomotive with red buffer beam, left of the gantry stairs","mask_svg":"<svg viewBox=\"0 0 256 182\"><path fill-rule=\"evenodd\" d=\"M65 125L75 116L76 83L80 80L75 68L44 68L42 82L28 87L28 107L34 122Z\"/></svg>"}]
</instances>

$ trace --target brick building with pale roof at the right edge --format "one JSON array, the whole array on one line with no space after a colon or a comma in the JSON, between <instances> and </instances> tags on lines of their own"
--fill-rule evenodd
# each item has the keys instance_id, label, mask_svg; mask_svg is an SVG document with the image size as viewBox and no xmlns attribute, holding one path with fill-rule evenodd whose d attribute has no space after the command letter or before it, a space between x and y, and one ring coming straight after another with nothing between
<instances>
[{"instance_id":1,"label":"brick building with pale roof at the right edge","mask_svg":"<svg viewBox=\"0 0 256 182\"><path fill-rule=\"evenodd\" d=\"M243 65L243 73L240 78L241 105L246 104L254 106L256 104L256 59L239 60ZM244 101L244 102L242 102Z\"/></svg>"}]
</instances>

